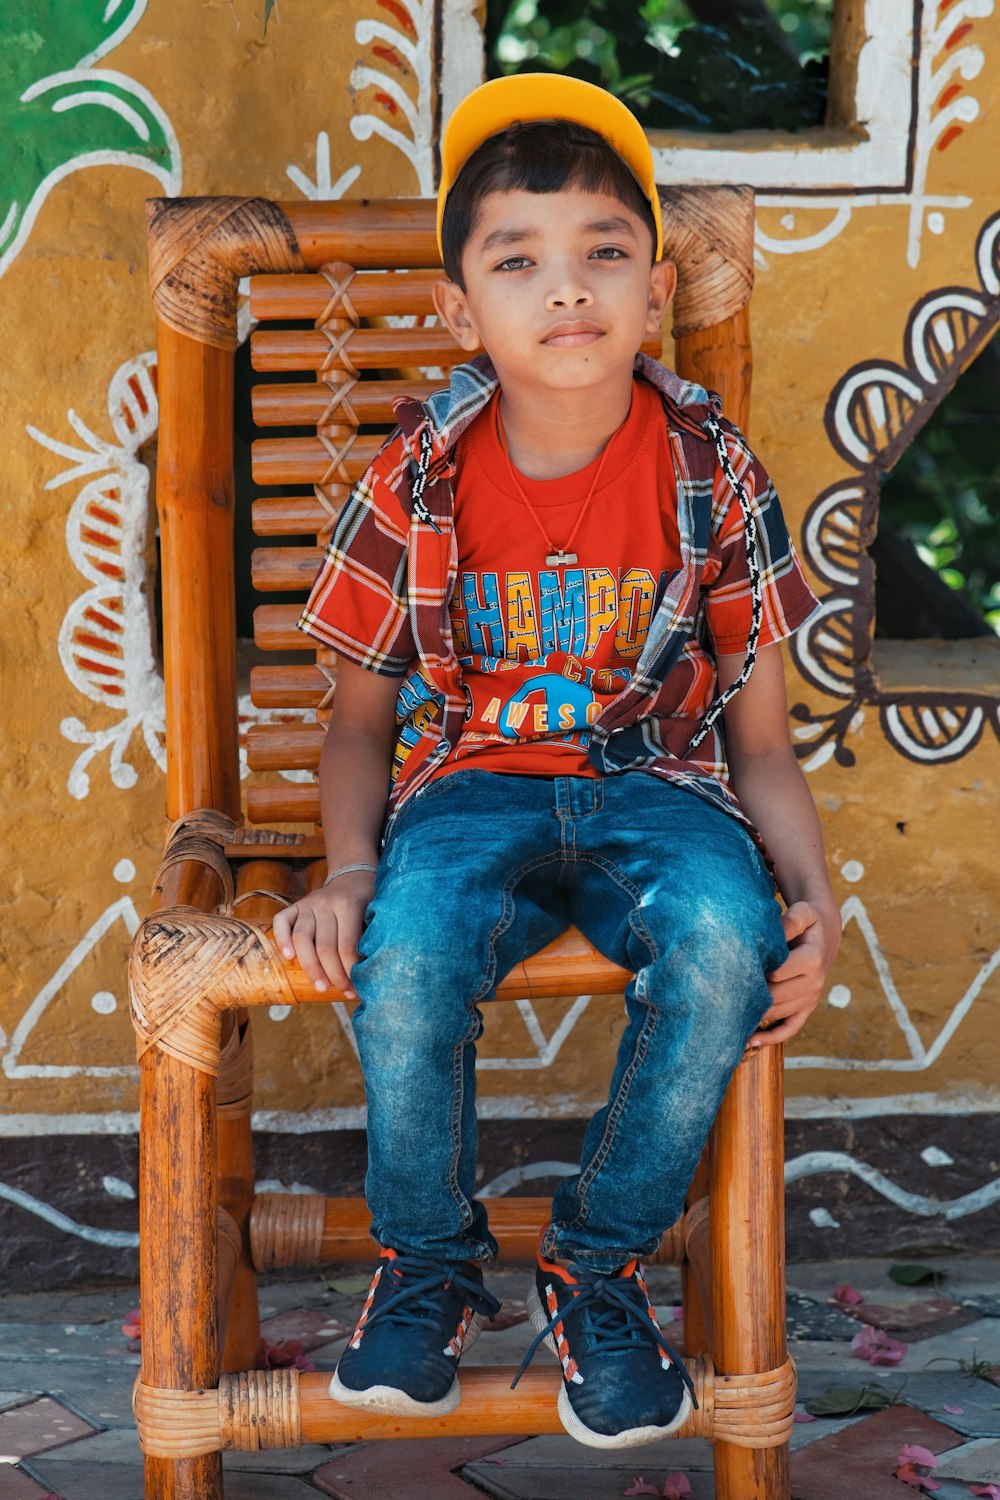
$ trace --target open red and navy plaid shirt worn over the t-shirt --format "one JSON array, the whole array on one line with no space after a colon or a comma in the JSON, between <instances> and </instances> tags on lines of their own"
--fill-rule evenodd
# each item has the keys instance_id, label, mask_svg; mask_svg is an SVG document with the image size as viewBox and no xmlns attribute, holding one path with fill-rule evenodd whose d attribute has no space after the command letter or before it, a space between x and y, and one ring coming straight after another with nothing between
<instances>
[{"instance_id":1,"label":"open red and navy plaid shirt worn over the t-shirt","mask_svg":"<svg viewBox=\"0 0 1000 1500\"><path fill-rule=\"evenodd\" d=\"M676 470L681 568L660 598L631 681L592 724L588 754L601 774L663 776L750 826L729 786L721 710L748 680L759 640L798 630L816 597L774 486L739 430L721 417L718 398L643 354L636 356L636 374L663 399ZM478 356L457 366L450 386L426 404L396 402L399 428L345 504L298 621L349 662L406 676L399 722L408 753L397 760L390 812L441 768L465 723L448 615L459 561L454 446L496 386L492 363ZM718 538L735 496L742 525L726 528L727 555L720 560ZM724 597L745 598L751 616L747 639L724 644L745 658L736 682L717 696L703 606L712 555L723 564L717 576ZM367 604L376 606L367 618L378 618L364 639L351 632L352 614L340 597L358 588L370 591Z\"/></svg>"}]
</instances>

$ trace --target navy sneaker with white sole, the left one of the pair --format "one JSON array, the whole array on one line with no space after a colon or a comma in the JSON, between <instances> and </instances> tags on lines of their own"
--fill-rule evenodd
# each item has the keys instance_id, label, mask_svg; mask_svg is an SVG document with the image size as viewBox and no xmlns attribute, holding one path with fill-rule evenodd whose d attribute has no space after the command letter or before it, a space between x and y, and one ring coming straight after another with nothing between
<instances>
[{"instance_id":1,"label":"navy sneaker with white sole, the left one of the pair","mask_svg":"<svg viewBox=\"0 0 1000 1500\"><path fill-rule=\"evenodd\" d=\"M480 1336L483 1317L499 1310L471 1262L384 1250L330 1395L394 1416L454 1412L459 1359Z\"/></svg>"}]
</instances>

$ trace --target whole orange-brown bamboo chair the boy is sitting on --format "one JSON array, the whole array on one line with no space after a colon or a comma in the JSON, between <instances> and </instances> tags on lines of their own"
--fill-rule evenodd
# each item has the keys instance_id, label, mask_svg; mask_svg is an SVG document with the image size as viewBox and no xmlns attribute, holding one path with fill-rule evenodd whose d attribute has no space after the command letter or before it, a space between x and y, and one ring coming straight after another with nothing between
<instances>
[{"instance_id":1,"label":"whole orange-brown bamboo chair the boy is sitting on","mask_svg":"<svg viewBox=\"0 0 1000 1500\"><path fill-rule=\"evenodd\" d=\"M720 390L745 424L753 195L675 189L664 194L664 220L679 268L675 363ZM441 384L402 372L460 356L439 328L387 321L432 310L430 201L151 200L148 226L171 832L130 963L141 1060L135 1414L148 1500L220 1500L226 1448L558 1432L559 1372L540 1360L511 1392L510 1371L468 1368L459 1410L417 1422L336 1406L325 1374L246 1370L259 1340L256 1270L367 1260L375 1250L360 1202L253 1196L247 1011L318 999L300 969L279 958L268 924L282 898L322 880L325 864L315 784L252 786L246 819L240 808L231 423L238 279L253 278L258 318L313 321L309 332L268 332L264 321L252 340L258 369L315 372L313 384L255 393L258 424L316 426L315 438L255 444L265 486L313 486L304 498L255 502L258 536L304 538L256 550L259 590L309 586L337 507L379 444L372 430L393 424L391 396ZM391 378L360 378L372 370ZM259 608L258 646L301 651L295 618L297 608ZM310 723L253 728L253 770L316 766L333 664L319 650L315 664L253 670L258 705L315 710ZM312 828L261 826L271 824ZM499 996L618 994L625 978L570 932L510 974ZM534 1258L544 1212L540 1198L493 1204L504 1256ZM736 1070L688 1210L660 1258L685 1266L687 1352L700 1400L685 1436L714 1440L717 1497L787 1500L795 1371L784 1324L780 1048L748 1050Z\"/></svg>"}]
</instances>

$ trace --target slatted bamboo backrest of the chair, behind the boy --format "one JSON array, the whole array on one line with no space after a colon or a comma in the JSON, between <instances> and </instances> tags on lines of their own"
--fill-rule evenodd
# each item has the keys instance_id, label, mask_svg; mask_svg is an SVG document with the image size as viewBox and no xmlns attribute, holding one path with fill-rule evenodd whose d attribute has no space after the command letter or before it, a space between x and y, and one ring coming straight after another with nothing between
<instances>
[{"instance_id":1,"label":"slatted bamboo backrest of the chair, behind the boy","mask_svg":"<svg viewBox=\"0 0 1000 1500\"><path fill-rule=\"evenodd\" d=\"M664 194L664 254L678 262L675 366L723 394L747 422L753 195L694 188ZM168 814L240 813L232 572L232 362L240 278L250 276L253 368L300 372L261 384L253 478L253 586L303 598L351 486L394 424L393 398L429 394L466 356L436 326L430 288L442 276L432 200L274 204L267 200L150 200L150 278L159 324L157 508L166 678ZM268 327L282 324L282 327ZM286 327L288 322L298 327ZM645 346L660 354L660 340ZM303 488L306 488L303 492ZM283 490L291 489L297 492ZM282 544L276 544L282 538ZM319 762L336 663L297 630L298 603L255 610L250 674L250 824L315 825L309 772ZM292 652L294 660L283 660ZM304 777L304 778L303 778ZM303 844L319 846L306 837ZM304 849L312 852L312 849Z\"/></svg>"}]
</instances>

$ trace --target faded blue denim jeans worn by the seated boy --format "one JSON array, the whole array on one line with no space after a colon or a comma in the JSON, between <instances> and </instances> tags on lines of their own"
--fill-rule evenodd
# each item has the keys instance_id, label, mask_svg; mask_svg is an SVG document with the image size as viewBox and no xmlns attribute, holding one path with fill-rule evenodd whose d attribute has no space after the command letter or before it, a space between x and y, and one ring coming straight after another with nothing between
<instances>
[{"instance_id":1,"label":"faded blue denim jeans worn by the seated boy","mask_svg":"<svg viewBox=\"0 0 1000 1500\"><path fill-rule=\"evenodd\" d=\"M634 978L607 1106L543 1248L615 1270L681 1214L771 1004L765 975L787 954L759 849L736 819L642 771L454 771L399 813L351 975L379 1244L496 1254L475 1200L478 1006L570 922Z\"/></svg>"}]
</instances>

